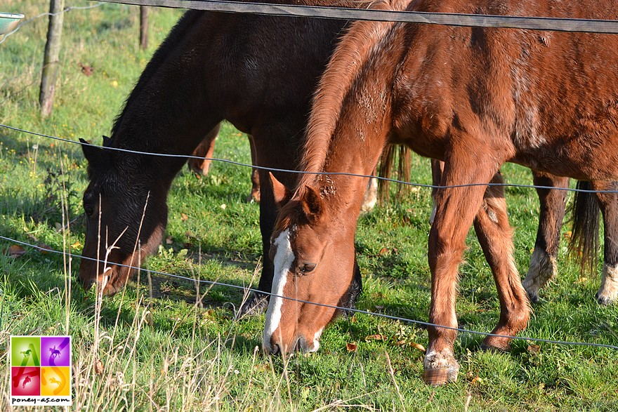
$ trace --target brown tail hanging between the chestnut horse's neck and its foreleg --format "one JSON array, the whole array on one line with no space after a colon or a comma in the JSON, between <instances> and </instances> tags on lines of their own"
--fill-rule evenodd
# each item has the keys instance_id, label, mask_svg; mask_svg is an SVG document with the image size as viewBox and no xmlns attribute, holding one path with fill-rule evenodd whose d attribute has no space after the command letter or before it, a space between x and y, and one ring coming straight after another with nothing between
<instances>
[{"instance_id":1,"label":"brown tail hanging between the chestnut horse's neck and its foreleg","mask_svg":"<svg viewBox=\"0 0 618 412\"><path fill-rule=\"evenodd\" d=\"M398 145L395 147L388 143L382 152L380 159L380 166L378 168L378 177L380 178L378 183L378 200L380 203L388 201L390 193L388 188L390 187L390 181L384 179L392 179L393 168L396 166L395 178L398 180L410 181L410 149L407 146ZM409 185L397 186L397 197L405 196L409 193Z\"/></svg>"}]
</instances>

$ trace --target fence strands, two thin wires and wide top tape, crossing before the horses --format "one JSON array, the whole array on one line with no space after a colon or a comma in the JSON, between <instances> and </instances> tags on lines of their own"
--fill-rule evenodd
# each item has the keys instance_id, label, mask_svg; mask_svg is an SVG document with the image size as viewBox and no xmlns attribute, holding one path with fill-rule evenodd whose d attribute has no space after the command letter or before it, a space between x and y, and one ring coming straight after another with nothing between
<instances>
[{"instance_id":1,"label":"fence strands, two thin wires and wide top tape, crossing before the horses","mask_svg":"<svg viewBox=\"0 0 618 412\"><path fill-rule=\"evenodd\" d=\"M262 4L262 3L237 3L235 1L219 1L219 0L102 0L98 1L97 4L92 6L78 7L78 6L70 6L65 8L61 13L66 13L75 9L89 9L96 8L102 6L105 3L116 3L116 4L132 4L138 6L162 6L162 7L170 7L170 8L194 8L197 10L209 10L209 11L224 11L230 13L254 13L261 15L278 15L278 16L292 16L292 17L314 17L314 18L337 18L343 20L379 20L379 21L395 21L395 22L417 22L417 23L425 23L425 24L437 24L437 25L453 25L453 26L475 26L475 27L511 27L511 28L520 28L520 29L534 29L534 30L553 30L553 31L563 31L563 32L593 32L593 33L605 33L605 34L618 34L618 21L615 20L591 20L591 19L563 19L563 18L537 18L537 17L520 17L520 16L488 16L488 15L465 15L458 13L416 13L416 12L397 12L397 11L376 11L376 10L366 10L366 9L350 9L350 8L326 8L326 7L312 7L312 6L294 6L294 5L282 5L282 4ZM51 13L41 13L40 15L34 16L33 18L29 18L22 22L18 27L16 27L12 32L6 34L10 36L17 32L23 25L27 22L30 22L36 18L40 18L44 15L51 15ZM4 41L0 41L0 44ZM15 126L10 126L6 124L0 124L1 128L6 128L8 130L17 131L20 133L28 133L30 135L37 135L42 138L48 138L51 140L58 140L61 142L67 142L70 144L77 145L90 145L89 143L78 142L76 140L70 140L65 138L59 138L53 135L47 135L44 133L37 133L34 131L27 131L22 128L18 128ZM97 145L93 145L97 146ZM97 146L98 147L98 146ZM277 172L287 172L287 173L313 173L313 174L327 174L327 175L349 175L355 176L359 178L375 178L372 175L362 175L355 173L317 173L317 172L305 172L305 171L294 171L280 168L265 168L262 166L255 166L251 164L243 164L241 162L232 161L228 159L217 159L217 158L204 158L204 157L195 157L190 154L162 154L155 152L140 152L140 151L132 151L128 149L119 149L114 147L105 147L106 150L116 150L119 152L128 152L132 154L138 155L149 155L149 156L159 156L159 157L175 157L175 158L184 158L184 159L209 159L211 161L224 162L228 164L234 164L242 167L254 167L260 168L267 171L277 171ZM534 189L553 189L553 190L566 190L570 192L587 192L587 193L597 193L597 192L609 192L609 193L617 193L618 190L581 190L570 187L548 187L548 186L539 186L539 185L522 185L515 183L480 183L473 185L454 185L454 186L438 186L438 185L427 185L416 182L405 182L402 180L392 179L392 178L382 178L383 180L388 180L389 182L394 182L400 185L410 185L416 187L425 187L425 188L453 188L453 187L465 187L465 186L508 186L508 187L522 187L522 188L534 188ZM96 258L88 258L85 256L74 255L72 253L67 253L66 251L55 251L49 250L48 248L41 248L40 246L36 246L34 244L29 244L27 242L19 241L17 239L12 239L11 237L5 237L0 235L0 239L4 241L13 242L15 244L20 244L23 246L31 247L34 249L44 250L48 253L59 253L65 256L70 256L70 258L81 258L87 260L97 260ZM119 265L121 267L127 267L132 270L141 270L140 267L133 267L128 265ZM323 307L330 307L335 310L343 310L346 312L353 312L358 314L367 314L369 316L382 317L384 319L390 319L395 321L402 321L409 324L416 324L419 326L433 326L437 328L446 328L454 331L458 331L460 333L470 333L473 335L492 335L501 338L511 338L515 340L527 340L538 343L551 343L558 345L574 345L574 346L589 346L589 347L600 347L600 348L609 348L612 350L618 350L618 346L615 345L605 345L600 343L586 343L586 342L569 342L569 341L561 341L561 340L547 340L541 338L532 338L532 337L524 337L524 336L508 336L508 335L495 335L492 333L485 333L480 331L473 331L464 328L452 328L449 326L442 326L431 324L426 321L419 321L416 319L407 319L404 317L396 317L388 314L381 314L376 312L369 312L365 310L357 310L346 307L338 307L333 305L324 305L321 303L309 302L305 300L298 300L295 298L290 298L286 296L280 296L274 293L269 293L265 291L258 291L254 288L247 288L245 286L239 286L234 284L227 284L220 281L209 281L205 279L195 279L189 277L183 277L179 274L171 274L166 272L157 272L154 270L150 270L149 272L154 274L160 274L162 276L176 278L176 279L184 279L193 282L199 282L203 284L216 285L216 286L224 286L228 288L237 288L242 289L243 291L251 291L254 293L261 293L263 295L275 296L277 298L284 298L287 300L294 300L301 303L306 303L310 305L319 305Z\"/></svg>"}]
</instances>

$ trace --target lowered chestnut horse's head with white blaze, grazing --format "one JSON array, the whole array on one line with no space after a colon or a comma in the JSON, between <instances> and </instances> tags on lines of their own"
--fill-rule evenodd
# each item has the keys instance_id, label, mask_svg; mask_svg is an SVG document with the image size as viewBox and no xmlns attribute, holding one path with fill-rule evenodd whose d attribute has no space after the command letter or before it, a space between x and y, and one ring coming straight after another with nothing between
<instances>
[{"instance_id":1,"label":"lowered chestnut horse's head with white blaze, grazing","mask_svg":"<svg viewBox=\"0 0 618 412\"><path fill-rule=\"evenodd\" d=\"M263 348L273 354L315 352L324 327L339 312L334 306L353 307L362 288L354 231L350 238L342 228L333 237L317 190L304 186L292 195L272 175L271 180L281 210L271 237L275 274Z\"/></svg>"}]
</instances>

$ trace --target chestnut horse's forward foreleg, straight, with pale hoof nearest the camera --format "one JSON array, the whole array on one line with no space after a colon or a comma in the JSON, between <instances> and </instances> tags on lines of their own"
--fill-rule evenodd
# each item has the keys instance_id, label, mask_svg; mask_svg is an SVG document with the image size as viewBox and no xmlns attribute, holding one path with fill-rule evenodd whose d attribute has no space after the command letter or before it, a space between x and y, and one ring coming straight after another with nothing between
<instances>
[{"instance_id":1,"label":"chestnut horse's forward foreleg, straight, with pale hoof nearest the camera","mask_svg":"<svg viewBox=\"0 0 618 412\"><path fill-rule=\"evenodd\" d=\"M487 183L498 161L478 158L450 159L445 163L442 186ZM466 234L483 201L483 186L439 189L435 194L435 221L429 234L428 260L431 270L431 307L423 379L432 385L454 382L459 364L454 358L457 318L455 298L457 270L465 247ZM443 328L440 326L447 326Z\"/></svg>"}]
</instances>

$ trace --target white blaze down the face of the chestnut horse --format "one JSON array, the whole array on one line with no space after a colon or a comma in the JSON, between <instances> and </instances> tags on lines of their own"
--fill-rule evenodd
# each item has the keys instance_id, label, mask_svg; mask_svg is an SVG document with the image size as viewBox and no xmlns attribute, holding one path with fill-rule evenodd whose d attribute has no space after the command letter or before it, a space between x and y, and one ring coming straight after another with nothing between
<instances>
[{"instance_id":1,"label":"white blaze down the face of the chestnut horse","mask_svg":"<svg viewBox=\"0 0 618 412\"><path fill-rule=\"evenodd\" d=\"M292 252L289 240L289 229L281 232L277 239L275 239L272 246L277 248L274 261L275 274L272 279L271 289L273 296L270 296L268 310L266 311L266 324L264 326L262 342L264 349L269 352L272 349L270 347L270 337L272 336L272 333L275 333L281 321L281 307L283 305L283 298L280 296L283 295L283 288L287 283L287 274L292 263L294 263L294 253Z\"/></svg>"}]
</instances>

